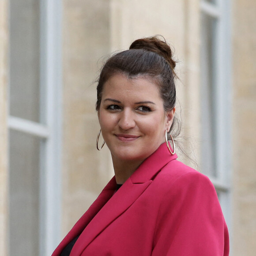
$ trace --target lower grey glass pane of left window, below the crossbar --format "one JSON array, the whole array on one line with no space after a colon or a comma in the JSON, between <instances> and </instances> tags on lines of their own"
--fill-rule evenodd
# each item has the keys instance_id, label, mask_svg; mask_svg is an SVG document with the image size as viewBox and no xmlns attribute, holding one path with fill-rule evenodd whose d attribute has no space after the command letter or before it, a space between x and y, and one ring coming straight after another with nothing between
<instances>
[{"instance_id":1,"label":"lower grey glass pane of left window, below the crossbar","mask_svg":"<svg viewBox=\"0 0 256 256\"><path fill-rule=\"evenodd\" d=\"M39 255L40 139L10 131L10 255Z\"/></svg>"}]
</instances>

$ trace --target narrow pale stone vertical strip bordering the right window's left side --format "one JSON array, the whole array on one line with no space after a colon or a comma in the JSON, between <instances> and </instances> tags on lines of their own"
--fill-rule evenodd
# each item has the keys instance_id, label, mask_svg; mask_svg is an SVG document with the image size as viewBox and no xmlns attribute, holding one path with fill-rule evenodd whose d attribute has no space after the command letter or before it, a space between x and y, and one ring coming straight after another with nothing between
<instances>
[{"instance_id":1,"label":"narrow pale stone vertical strip bordering the right window's left side","mask_svg":"<svg viewBox=\"0 0 256 256\"><path fill-rule=\"evenodd\" d=\"M200 162L200 1L185 0L183 8L185 21L182 107L186 138L184 143L186 152L192 160Z\"/></svg>"}]
</instances>

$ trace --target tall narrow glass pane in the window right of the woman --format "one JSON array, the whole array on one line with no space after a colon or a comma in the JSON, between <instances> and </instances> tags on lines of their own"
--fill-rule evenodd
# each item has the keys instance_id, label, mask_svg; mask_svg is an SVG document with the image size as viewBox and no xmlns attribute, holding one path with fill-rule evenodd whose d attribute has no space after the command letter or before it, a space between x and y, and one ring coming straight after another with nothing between
<instances>
[{"instance_id":1,"label":"tall narrow glass pane in the window right of the woman","mask_svg":"<svg viewBox=\"0 0 256 256\"><path fill-rule=\"evenodd\" d=\"M217 20L201 16L202 171L216 177L216 29Z\"/></svg>"}]
</instances>

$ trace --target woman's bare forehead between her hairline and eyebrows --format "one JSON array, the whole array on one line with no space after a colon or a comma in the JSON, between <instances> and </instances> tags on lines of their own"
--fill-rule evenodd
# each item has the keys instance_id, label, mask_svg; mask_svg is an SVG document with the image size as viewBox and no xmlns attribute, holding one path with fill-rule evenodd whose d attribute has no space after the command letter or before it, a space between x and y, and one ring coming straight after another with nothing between
<instances>
[{"instance_id":1,"label":"woman's bare forehead between her hairline and eyebrows","mask_svg":"<svg viewBox=\"0 0 256 256\"><path fill-rule=\"evenodd\" d=\"M129 78L127 75L116 74L111 76L104 84L102 97L114 95L123 98L147 98L161 101L159 88L153 79L145 76Z\"/></svg>"}]
</instances>

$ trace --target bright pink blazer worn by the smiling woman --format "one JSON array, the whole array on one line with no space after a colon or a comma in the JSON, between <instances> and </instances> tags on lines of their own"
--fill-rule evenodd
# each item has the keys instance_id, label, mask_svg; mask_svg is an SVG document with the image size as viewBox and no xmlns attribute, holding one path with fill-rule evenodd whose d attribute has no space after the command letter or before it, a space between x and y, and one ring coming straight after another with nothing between
<instances>
[{"instance_id":1,"label":"bright pink blazer worn by the smiling woman","mask_svg":"<svg viewBox=\"0 0 256 256\"><path fill-rule=\"evenodd\" d=\"M53 252L79 235L71 256L228 256L215 188L162 144L116 192L105 186Z\"/></svg>"}]
</instances>

